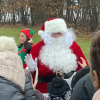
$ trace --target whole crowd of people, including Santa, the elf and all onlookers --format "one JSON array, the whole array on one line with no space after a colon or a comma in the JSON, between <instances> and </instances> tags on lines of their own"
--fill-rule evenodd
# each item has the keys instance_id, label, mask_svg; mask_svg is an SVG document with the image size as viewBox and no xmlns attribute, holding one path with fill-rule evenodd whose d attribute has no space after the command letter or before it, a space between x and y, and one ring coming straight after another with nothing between
<instances>
[{"instance_id":1,"label":"whole crowd of people, including Santa, the elf and all onlookers","mask_svg":"<svg viewBox=\"0 0 100 100\"><path fill-rule=\"evenodd\" d=\"M0 100L99 100L100 31L91 43L90 66L63 18L45 21L37 44L33 34L22 29L18 46L0 36Z\"/></svg>"}]
</instances>

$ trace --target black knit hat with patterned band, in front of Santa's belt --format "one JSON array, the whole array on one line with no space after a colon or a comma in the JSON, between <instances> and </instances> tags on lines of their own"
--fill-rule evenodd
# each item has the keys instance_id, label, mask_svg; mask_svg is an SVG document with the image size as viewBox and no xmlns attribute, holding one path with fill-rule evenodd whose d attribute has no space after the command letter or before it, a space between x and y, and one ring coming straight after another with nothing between
<instances>
[{"instance_id":1,"label":"black knit hat with patterned band, in front of Santa's belt","mask_svg":"<svg viewBox=\"0 0 100 100\"><path fill-rule=\"evenodd\" d=\"M55 77L47 86L49 100L67 100L71 96L70 87L64 79Z\"/></svg>"}]
</instances>

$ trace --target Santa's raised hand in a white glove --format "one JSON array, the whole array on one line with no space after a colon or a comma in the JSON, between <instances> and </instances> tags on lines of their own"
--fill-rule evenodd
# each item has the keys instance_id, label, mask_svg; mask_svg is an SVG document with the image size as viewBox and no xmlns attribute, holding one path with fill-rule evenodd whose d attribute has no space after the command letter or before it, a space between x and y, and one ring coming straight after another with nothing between
<instances>
[{"instance_id":1,"label":"Santa's raised hand in a white glove","mask_svg":"<svg viewBox=\"0 0 100 100\"><path fill-rule=\"evenodd\" d=\"M25 60L25 63L28 66L30 71L35 71L36 70L36 68L37 68L37 58L35 58L35 61L34 61L33 58L32 58L32 55L27 54L25 56L24 60Z\"/></svg>"}]
</instances>

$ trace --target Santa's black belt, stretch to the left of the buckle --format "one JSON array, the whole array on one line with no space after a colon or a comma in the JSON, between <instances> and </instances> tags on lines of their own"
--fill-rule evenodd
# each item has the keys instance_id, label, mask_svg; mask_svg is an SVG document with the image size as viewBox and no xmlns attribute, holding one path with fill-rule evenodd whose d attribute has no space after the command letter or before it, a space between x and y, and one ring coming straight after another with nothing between
<instances>
[{"instance_id":1,"label":"Santa's black belt, stretch to the left of the buckle","mask_svg":"<svg viewBox=\"0 0 100 100\"><path fill-rule=\"evenodd\" d=\"M38 82L41 82L41 83L49 83L49 82L52 81L52 79L54 77L56 77L56 75L38 77Z\"/></svg>"}]
</instances>

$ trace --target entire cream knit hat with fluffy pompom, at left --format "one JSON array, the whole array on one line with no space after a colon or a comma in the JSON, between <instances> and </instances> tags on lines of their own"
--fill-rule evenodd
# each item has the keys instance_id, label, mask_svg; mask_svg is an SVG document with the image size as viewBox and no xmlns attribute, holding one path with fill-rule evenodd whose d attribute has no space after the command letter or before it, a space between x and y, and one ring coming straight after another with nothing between
<instances>
[{"instance_id":1,"label":"entire cream knit hat with fluffy pompom, at left","mask_svg":"<svg viewBox=\"0 0 100 100\"><path fill-rule=\"evenodd\" d=\"M14 38L0 37L0 76L19 85L24 90L25 74Z\"/></svg>"}]
</instances>

